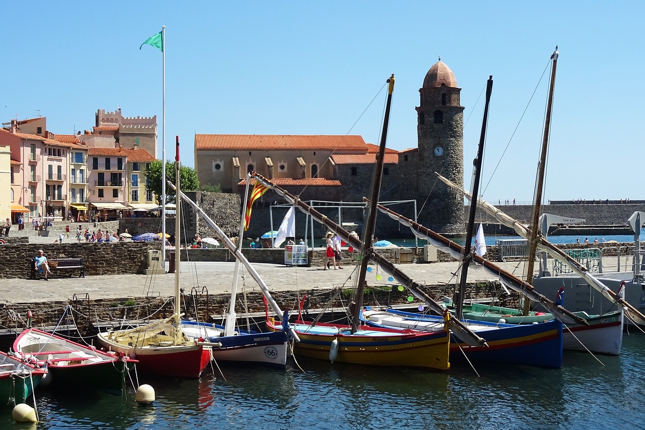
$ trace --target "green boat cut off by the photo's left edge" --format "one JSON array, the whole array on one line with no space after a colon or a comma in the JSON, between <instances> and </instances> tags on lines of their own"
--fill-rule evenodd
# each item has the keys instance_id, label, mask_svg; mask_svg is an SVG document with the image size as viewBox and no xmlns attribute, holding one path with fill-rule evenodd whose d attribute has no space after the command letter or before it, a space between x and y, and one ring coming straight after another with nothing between
<instances>
[{"instance_id":1,"label":"green boat cut off by the photo's left edge","mask_svg":"<svg viewBox=\"0 0 645 430\"><path fill-rule=\"evenodd\" d=\"M46 373L0 352L0 407L26 403Z\"/></svg>"}]
</instances>

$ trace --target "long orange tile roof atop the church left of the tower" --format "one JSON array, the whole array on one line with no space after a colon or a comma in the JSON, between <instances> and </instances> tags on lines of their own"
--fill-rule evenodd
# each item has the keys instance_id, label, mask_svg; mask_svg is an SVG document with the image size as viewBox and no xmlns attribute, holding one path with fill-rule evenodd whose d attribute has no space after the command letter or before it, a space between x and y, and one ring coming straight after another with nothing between
<instances>
[{"instance_id":1,"label":"long orange tile roof atop the church left of the tower","mask_svg":"<svg viewBox=\"0 0 645 430\"><path fill-rule=\"evenodd\" d=\"M341 149L366 151L367 144L361 136L195 134L195 149Z\"/></svg>"}]
</instances>

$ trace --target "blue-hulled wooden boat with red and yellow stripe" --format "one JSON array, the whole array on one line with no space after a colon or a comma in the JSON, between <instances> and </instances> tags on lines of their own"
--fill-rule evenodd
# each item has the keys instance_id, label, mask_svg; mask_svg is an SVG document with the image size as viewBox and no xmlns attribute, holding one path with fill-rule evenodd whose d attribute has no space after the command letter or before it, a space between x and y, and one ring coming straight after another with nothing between
<instances>
[{"instance_id":1,"label":"blue-hulled wooden boat with red and yellow stripe","mask_svg":"<svg viewBox=\"0 0 645 430\"><path fill-rule=\"evenodd\" d=\"M442 318L432 315L387 309L381 312L393 318L366 318L369 325L390 327L398 330L424 331L441 323ZM468 328L481 336L486 346L470 346L451 334L451 359L462 360L464 355L472 362L493 362L525 364L536 367L559 369L562 367L562 323L554 320L529 325L493 324L473 320L462 320Z\"/></svg>"}]
</instances>

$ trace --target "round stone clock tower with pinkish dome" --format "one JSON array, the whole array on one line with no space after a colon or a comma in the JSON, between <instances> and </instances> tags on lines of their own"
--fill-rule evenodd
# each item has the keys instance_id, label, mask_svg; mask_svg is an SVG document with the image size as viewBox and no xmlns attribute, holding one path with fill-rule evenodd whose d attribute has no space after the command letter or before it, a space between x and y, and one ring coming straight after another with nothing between
<instances>
[{"instance_id":1,"label":"round stone clock tower with pinkish dome","mask_svg":"<svg viewBox=\"0 0 645 430\"><path fill-rule=\"evenodd\" d=\"M455 74L441 61L435 63L419 89L417 159L419 222L436 232L464 230L464 199L437 179L435 172L464 184L464 107ZM428 200L426 201L426 198Z\"/></svg>"}]
</instances>

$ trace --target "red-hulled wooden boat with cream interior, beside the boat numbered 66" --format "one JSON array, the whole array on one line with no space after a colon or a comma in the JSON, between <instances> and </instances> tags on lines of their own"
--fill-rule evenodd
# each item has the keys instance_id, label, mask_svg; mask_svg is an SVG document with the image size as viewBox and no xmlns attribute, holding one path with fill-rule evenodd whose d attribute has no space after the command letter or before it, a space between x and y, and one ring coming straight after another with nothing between
<instances>
[{"instance_id":1,"label":"red-hulled wooden boat with cream interior, beside the boat numbered 66","mask_svg":"<svg viewBox=\"0 0 645 430\"><path fill-rule=\"evenodd\" d=\"M129 347L108 339L107 333L97 338L109 351L138 360L137 371L146 374L199 378L211 360L210 347L201 344Z\"/></svg>"}]
</instances>

